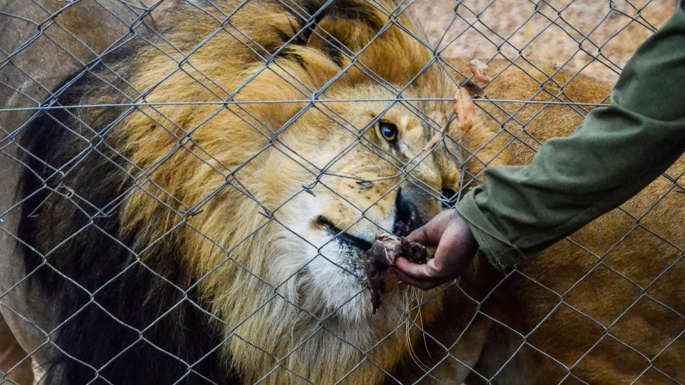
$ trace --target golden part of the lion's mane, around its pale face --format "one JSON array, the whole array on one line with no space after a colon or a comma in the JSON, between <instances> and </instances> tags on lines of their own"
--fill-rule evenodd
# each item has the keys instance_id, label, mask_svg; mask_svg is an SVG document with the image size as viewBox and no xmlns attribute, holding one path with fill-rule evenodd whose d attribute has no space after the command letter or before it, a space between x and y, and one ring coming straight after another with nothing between
<instances>
[{"instance_id":1,"label":"golden part of the lion's mane, around its pale face","mask_svg":"<svg viewBox=\"0 0 685 385\"><path fill-rule=\"evenodd\" d=\"M309 159L292 149L325 140L298 134L303 126L324 119L321 110L307 110L312 98L396 97L388 88L404 94L446 95L442 90L453 87L453 81L435 65L430 48L412 36L422 35L408 17L392 13L392 4L349 0L319 9L324 1L304 3L311 14L323 13L316 28L303 28L309 25L308 16L303 19L271 2L245 4L220 30L178 13L178 26L168 40L183 40L186 35L211 38L180 65L159 50L138 58L144 65L131 83L149 90L144 97L149 103L248 103L145 106L126 117L115 132L117 147L131 161L128 171L145 193L131 195L125 204L124 233L138 229L140 249L167 233L174 240L165 242L182 243L182 258L193 266L195 277L202 277L200 288L211 303L209 311L223 320L223 352L247 383L267 375L282 359L296 375L277 370L266 384L296 383L297 375L315 384L332 384L364 357L372 357L373 364L362 364L347 382L375 384L383 373L374 365L392 368L405 355L407 341L401 336L386 338L368 356L357 347L371 348L395 325L376 317L369 321L373 325L336 328L344 334L332 334L327 328L340 321L321 309L316 298L303 297L306 282L282 282L282 276L273 275L274 261L290 252L280 220L296 215L280 206L316 181L320 172L303 167ZM228 8L234 3L230 4ZM308 38L307 28L313 29ZM284 40L290 44L284 46ZM330 41L347 54L331 56ZM411 90L405 90L408 86ZM285 102L249 104L267 100ZM355 104L330 103L324 108L346 115ZM450 104L445 108L449 110ZM193 216L198 212L204 213ZM150 247L147 254L154 251ZM302 268L291 265L288 275L296 277ZM298 301L305 303L293 306ZM424 320L435 312L430 308L422 310ZM416 335L412 333L411 340ZM312 365L313 361L341 364Z\"/></svg>"}]
</instances>

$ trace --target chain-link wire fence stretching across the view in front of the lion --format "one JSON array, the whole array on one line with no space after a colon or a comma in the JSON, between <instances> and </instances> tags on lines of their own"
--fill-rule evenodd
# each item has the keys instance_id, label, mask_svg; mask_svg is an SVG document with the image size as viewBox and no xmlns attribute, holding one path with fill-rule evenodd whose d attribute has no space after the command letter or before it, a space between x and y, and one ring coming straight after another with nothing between
<instances>
[{"instance_id":1,"label":"chain-link wire fence stretching across the view in front of the lion","mask_svg":"<svg viewBox=\"0 0 685 385\"><path fill-rule=\"evenodd\" d=\"M685 384L683 160L517 268L368 261L609 103L675 6L0 1L0 382Z\"/></svg>"}]
</instances>

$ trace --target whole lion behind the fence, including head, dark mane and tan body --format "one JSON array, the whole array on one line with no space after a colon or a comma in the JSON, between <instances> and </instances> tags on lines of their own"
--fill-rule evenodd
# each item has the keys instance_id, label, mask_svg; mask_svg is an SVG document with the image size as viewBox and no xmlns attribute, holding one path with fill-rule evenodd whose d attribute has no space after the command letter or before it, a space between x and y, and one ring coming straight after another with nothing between
<instances>
[{"instance_id":1,"label":"whole lion behind the fence, including head, dark mane and tan body","mask_svg":"<svg viewBox=\"0 0 685 385\"><path fill-rule=\"evenodd\" d=\"M450 98L456 90L451 77L463 79L433 63L430 49L403 29L386 29L382 5L334 2L312 31L277 2L237 8L233 1L215 3L225 14L235 11L225 28L211 16L225 17L216 8L179 6L161 28L167 42L141 32L144 39L108 54L59 97L63 106L102 107L44 113L23 130L21 147L14 149L25 166L13 163L5 172L22 175L15 200L22 204L5 219L12 226L8 233L21 243L0 254L0 266L12 268L0 280L1 290L12 287L3 304L13 311L3 313L29 351L45 336L17 313L46 331L57 328L51 341L59 349L45 345L33 354L39 364L51 364L45 384L86 384L98 375L113 384L172 384L179 378L184 384L252 384L263 377L266 384L381 384L389 381L385 372L413 383L424 368L410 350L428 368L440 363L431 375L451 381L469 375L455 359L485 378L499 372L494 382L509 385L561 382L565 371L545 354L588 383L630 383L649 367L640 359L622 364L615 354L621 349L613 345L583 361L595 344L604 347L613 337L598 343L601 327L574 327L577 310L608 327L627 309L615 304L629 302L634 290L609 279L602 265L588 274L597 261L568 241L521 269L556 293L568 291L563 303L518 272L497 286L501 276L481 264L463 283L477 300L487 296L480 308L452 286L437 297L426 293L419 315L406 310L417 303L415 293L391 285L379 313L371 316L362 253L355 245L399 231L398 223L418 216L410 226L416 227L440 211L430 193L458 190L460 161L469 152L480 149L480 161L467 162L471 174L482 170L481 161L490 167L530 161L533 151L517 143L499 154L510 136L489 142L500 128L491 115L499 121L508 117L500 107L515 113L506 125L510 133L519 133L516 122L534 117L527 134L519 136L533 148L538 144L532 138L568 135L581 122L580 113L567 106L518 110L514 104L481 104L487 113L479 110L476 126L462 132L449 124L448 101L392 103L409 84L405 99ZM309 15L321 6L296 3ZM420 36L407 17L398 23ZM322 31L350 54L368 44L357 65L326 43ZM193 53L184 60L168 43ZM466 72L465 61L451 65ZM497 73L505 63L493 65ZM540 92L529 74L542 83L546 77L522 68L502 72L488 85L488 96L528 100ZM555 76L561 84L570 79L567 72ZM325 102L312 104L314 92ZM598 103L609 86L578 76L564 92L574 101ZM539 99L550 97L542 93ZM108 107L143 100L148 105ZM398 142L383 140L376 117L398 126ZM430 154L422 152L436 129L463 148L445 140ZM658 187L645 190L626 211L639 217L660 193ZM682 216L672 214L682 196L670 195L663 206L668 221L647 218L656 234L675 237L675 245L685 234ZM2 209L15 202L3 202ZM411 213L403 213L405 207ZM572 239L600 256L621 240L636 243L629 250L614 247L609 265L646 287L650 277L657 278L647 272L675 262L672 250L654 255L661 241L649 234L626 236L631 225L624 222L631 220L618 216L604 217ZM339 231L354 239L332 240ZM6 242L14 245L14 237L6 236ZM26 274L28 279L13 286ZM586 274L586 286L570 290ZM683 309L677 279L666 277L655 285L657 295ZM611 295L597 295L603 292ZM37 298L50 306L32 306ZM555 306L554 322L537 327ZM474 318L476 310L490 318ZM675 333L679 322L665 327L650 320L650 310L645 305L624 319L645 336ZM414 321L436 339L419 342ZM442 361L446 350L435 342L452 356ZM652 342L640 347L654 356L666 348ZM668 375L682 378L682 350L677 344L670 349L664 349L670 354ZM467 379L481 381L476 374Z\"/></svg>"}]
</instances>

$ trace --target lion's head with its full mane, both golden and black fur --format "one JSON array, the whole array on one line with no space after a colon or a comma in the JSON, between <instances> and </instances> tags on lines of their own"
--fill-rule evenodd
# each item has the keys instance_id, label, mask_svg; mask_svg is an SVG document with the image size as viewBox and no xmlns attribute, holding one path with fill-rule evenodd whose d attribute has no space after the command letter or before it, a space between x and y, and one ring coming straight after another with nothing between
<instances>
[{"instance_id":1,"label":"lion's head with its full mane, both golden and black fur","mask_svg":"<svg viewBox=\"0 0 685 385\"><path fill-rule=\"evenodd\" d=\"M18 237L63 322L45 384L380 384L410 359L416 302L395 290L371 317L360 253L458 190L464 145L421 151L465 137L451 103L394 102L456 82L389 3L218 4L236 10L225 28L186 6L160 32L192 54L141 33L58 97L104 106L22 133ZM249 103L270 100L300 102ZM118 106L134 102L150 105Z\"/></svg>"}]
</instances>

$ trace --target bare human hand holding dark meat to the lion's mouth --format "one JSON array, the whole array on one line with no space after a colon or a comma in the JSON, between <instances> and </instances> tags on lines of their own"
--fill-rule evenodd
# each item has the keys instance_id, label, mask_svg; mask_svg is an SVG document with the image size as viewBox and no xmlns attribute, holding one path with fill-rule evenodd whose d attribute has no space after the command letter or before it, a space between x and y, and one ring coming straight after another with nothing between
<instances>
[{"instance_id":1,"label":"bare human hand holding dark meat to the lion's mouth","mask_svg":"<svg viewBox=\"0 0 685 385\"><path fill-rule=\"evenodd\" d=\"M407 237L424 246L437 246L435 256L425 265L395 260L392 272L401 281L430 290L459 277L469 267L478 244L466 220L456 210L446 210Z\"/></svg>"}]
</instances>

